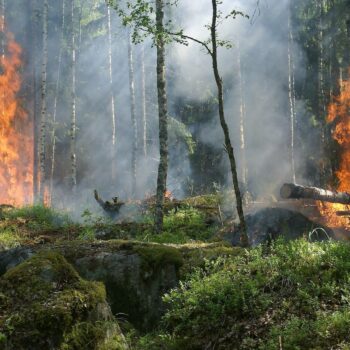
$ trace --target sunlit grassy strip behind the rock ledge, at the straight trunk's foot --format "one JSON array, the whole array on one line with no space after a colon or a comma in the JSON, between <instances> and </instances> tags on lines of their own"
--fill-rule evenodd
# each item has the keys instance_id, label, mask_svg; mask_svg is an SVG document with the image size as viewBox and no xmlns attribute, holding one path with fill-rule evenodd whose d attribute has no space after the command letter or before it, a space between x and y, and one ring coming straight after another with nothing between
<instances>
[{"instance_id":1,"label":"sunlit grassy strip behind the rock ledge, at the straight trunk's foot","mask_svg":"<svg viewBox=\"0 0 350 350\"><path fill-rule=\"evenodd\" d=\"M76 239L123 239L173 244L211 240L218 225L217 196L192 197L181 203L180 208L166 212L161 234L154 233L153 216L149 212L129 218L134 221L125 222L85 211L82 214L83 223L75 223L69 213L42 205L2 210L0 250Z\"/></svg>"}]
</instances>

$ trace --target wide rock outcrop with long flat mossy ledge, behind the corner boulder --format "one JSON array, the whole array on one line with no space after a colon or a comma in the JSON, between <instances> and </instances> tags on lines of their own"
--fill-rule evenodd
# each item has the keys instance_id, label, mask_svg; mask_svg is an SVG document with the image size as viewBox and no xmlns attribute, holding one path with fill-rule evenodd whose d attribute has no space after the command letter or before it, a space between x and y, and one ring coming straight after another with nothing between
<instances>
[{"instance_id":1,"label":"wide rock outcrop with long flat mossy ledge, behind the corner boulder","mask_svg":"<svg viewBox=\"0 0 350 350\"><path fill-rule=\"evenodd\" d=\"M137 329L153 329L164 312L162 296L206 260L240 254L240 248L218 244L168 246L130 241L66 242L0 252L0 271L11 271L23 259L55 251L79 275L103 282L112 312Z\"/></svg>"}]
</instances>

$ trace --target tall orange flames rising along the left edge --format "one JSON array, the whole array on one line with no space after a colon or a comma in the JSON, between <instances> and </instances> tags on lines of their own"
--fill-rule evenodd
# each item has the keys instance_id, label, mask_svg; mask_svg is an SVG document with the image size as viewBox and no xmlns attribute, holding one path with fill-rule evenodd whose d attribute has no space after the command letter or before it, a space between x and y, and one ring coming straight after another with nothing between
<instances>
[{"instance_id":1,"label":"tall orange flames rising along the left edge","mask_svg":"<svg viewBox=\"0 0 350 350\"><path fill-rule=\"evenodd\" d=\"M22 49L1 24L0 204L33 200L33 126L21 106Z\"/></svg>"}]
</instances>

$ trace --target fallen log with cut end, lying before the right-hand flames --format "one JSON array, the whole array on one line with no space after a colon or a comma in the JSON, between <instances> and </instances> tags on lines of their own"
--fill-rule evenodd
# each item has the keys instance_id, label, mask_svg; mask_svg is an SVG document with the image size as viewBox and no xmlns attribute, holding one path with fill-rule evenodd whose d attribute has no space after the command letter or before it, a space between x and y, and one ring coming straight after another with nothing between
<instances>
[{"instance_id":1,"label":"fallen log with cut end, lying before the right-hand flames","mask_svg":"<svg viewBox=\"0 0 350 350\"><path fill-rule=\"evenodd\" d=\"M284 199L314 199L323 202L350 204L350 193L324 190L317 187L306 187L296 184L284 184L280 195Z\"/></svg>"}]
</instances>

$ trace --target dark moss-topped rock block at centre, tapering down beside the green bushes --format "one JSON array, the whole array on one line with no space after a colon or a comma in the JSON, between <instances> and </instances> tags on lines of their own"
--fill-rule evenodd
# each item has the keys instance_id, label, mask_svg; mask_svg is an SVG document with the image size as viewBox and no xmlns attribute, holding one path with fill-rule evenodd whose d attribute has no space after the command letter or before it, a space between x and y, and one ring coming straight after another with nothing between
<instances>
[{"instance_id":1,"label":"dark moss-topped rock block at centre, tapering down beside the green bushes","mask_svg":"<svg viewBox=\"0 0 350 350\"><path fill-rule=\"evenodd\" d=\"M126 241L60 245L80 275L105 284L114 314L152 329L163 314L162 295L177 286L181 252L160 244Z\"/></svg>"}]
</instances>

